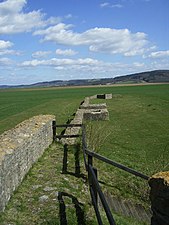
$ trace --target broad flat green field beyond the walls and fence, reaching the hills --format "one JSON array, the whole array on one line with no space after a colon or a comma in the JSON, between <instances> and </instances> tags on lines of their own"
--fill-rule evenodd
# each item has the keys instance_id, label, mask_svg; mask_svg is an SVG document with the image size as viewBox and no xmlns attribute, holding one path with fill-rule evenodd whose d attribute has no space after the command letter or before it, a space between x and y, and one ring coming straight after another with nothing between
<instances>
[{"instance_id":1,"label":"broad flat green field beyond the walls and fence, reaching the hills","mask_svg":"<svg viewBox=\"0 0 169 225\"><path fill-rule=\"evenodd\" d=\"M169 85L0 90L0 133L38 114L54 114L58 124L73 118L87 96L112 93L109 121L87 122L88 145L148 176L169 170ZM102 187L113 195L148 202L148 184L94 161Z\"/></svg>"}]
</instances>

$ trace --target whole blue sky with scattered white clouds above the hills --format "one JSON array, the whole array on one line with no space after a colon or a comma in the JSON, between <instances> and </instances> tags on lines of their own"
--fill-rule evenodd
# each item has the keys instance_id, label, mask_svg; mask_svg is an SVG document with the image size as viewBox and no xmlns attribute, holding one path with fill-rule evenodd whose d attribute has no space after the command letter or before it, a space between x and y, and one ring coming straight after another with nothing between
<instances>
[{"instance_id":1,"label":"whole blue sky with scattered white clouds above the hills","mask_svg":"<svg viewBox=\"0 0 169 225\"><path fill-rule=\"evenodd\" d=\"M0 85L169 69L169 0L0 0Z\"/></svg>"}]
</instances>

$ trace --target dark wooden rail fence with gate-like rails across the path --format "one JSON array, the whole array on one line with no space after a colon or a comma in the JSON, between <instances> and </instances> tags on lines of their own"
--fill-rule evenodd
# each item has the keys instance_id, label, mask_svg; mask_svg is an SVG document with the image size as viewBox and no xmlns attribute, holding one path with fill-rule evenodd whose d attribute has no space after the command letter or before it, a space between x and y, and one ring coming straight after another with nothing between
<instances>
[{"instance_id":1,"label":"dark wooden rail fence with gate-like rails across the path","mask_svg":"<svg viewBox=\"0 0 169 225\"><path fill-rule=\"evenodd\" d=\"M80 126L82 127L82 135L56 135L56 128L57 127L77 127ZM113 215L111 213L111 210L109 208L109 205L106 201L106 198L102 192L102 189L100 187L99 181L97 179L97 169L93 166L93 158L97 158L98 160L107 163L109 165L112 165L114 167L117 167L121 170L124 170L128 173L131 173L137 177L140 177L144 180L148 180L149 177L136 171L133 170L129 167L126 167L122 164L119 164L117 162L114 162L102 155L99 155L93 151L90 151L88 149L87 146L87 142L86 142L86 130L85 130L85 125L84 124L62 124L62 125L57 125L56 122L53 122L53 140L56 141L57 138L74 138L74 137L79 137L82 136L82 151L83 151L83 158L84 158L84 164L85 164L85 168L86 171L88 172L88 183L89 183L89 190L90 190L90 195L91 195L91 199L92 199L92 204L96 213L96 217L97 217L97 221L99 225L103 225L103 221L101 218L101 214L99 211L99 207L98 207L98 197L100 198L100 201L103 205L103 208L105 210L107 219L109 221L110 225L116 225L115 220L113 218Z\"/></svg>"}]
</instances>

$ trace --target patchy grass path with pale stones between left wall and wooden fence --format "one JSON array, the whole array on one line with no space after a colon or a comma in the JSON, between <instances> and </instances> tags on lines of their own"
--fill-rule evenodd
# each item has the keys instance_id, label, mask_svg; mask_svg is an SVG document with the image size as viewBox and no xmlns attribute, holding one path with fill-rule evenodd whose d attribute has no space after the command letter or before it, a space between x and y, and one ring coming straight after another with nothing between
<instances>
[{"instance_id":1,"label":"patchy grass path with pale stones between left wall and wooden fence","mask_svg":"<svg viewBox=\"0 0 169 225\"><path fill-rule=\"evenodd\" d=\"M91 205L82 155L80 174L75 171L76 148L68 149L67 172L63 173L63 146L52 144L31 168L0 213L1 225L97 225ZM102 219L108 225L101 210ZM115 214L117 225L144 225ZM67 223L66 223L66 222Z\"/></svg>"}]
</instances>

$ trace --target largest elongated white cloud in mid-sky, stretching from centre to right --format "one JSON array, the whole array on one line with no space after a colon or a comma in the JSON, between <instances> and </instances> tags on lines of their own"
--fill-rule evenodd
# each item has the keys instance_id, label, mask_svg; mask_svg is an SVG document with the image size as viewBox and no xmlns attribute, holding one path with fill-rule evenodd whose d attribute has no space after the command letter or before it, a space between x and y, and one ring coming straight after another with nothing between
<instances>
[{"instance_id":1,"label":"largest elongated white cloud in mid-sky, stretching from centre to right","mask_svg":"<svg viewBox=\"0 0 169 225\"><path fill-rule=\"evenodd\" d=\"M59 23L47 29L38 30L34 35L44 36L43 41L53 41L63 45L86 45L93 52L141 55L147 51L147 35L131 33L128 29L93 28L83 33L73 32L71 24Z\"/></svg>"}]
</instances>

